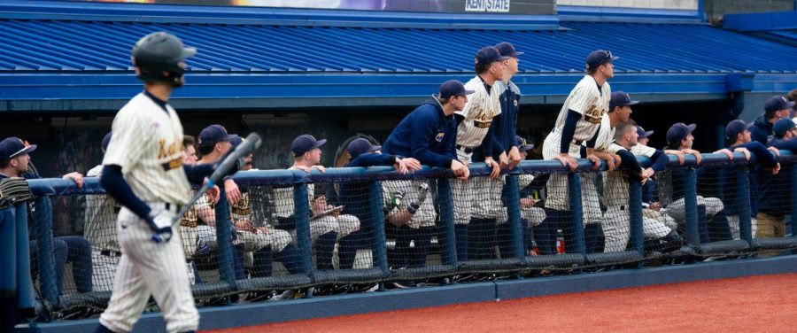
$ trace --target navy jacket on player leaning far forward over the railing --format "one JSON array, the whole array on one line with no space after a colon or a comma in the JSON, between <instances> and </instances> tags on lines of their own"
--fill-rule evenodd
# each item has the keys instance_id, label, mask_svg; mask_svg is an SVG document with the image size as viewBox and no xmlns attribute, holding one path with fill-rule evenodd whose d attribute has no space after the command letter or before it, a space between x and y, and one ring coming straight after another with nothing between
<instances>
[{"instance_id":1,"label":"navy jacket on player leaning far forward over the railing","mask_svg":"<svg viewBox=\"0 0 797 333\"><path fill-rule=\"evenodd\" d=\"M451 167L457 159L457 122L446 116L437 99L415 108L382 145L382 151L418 159L431 167Z\"/></svg>"}]
</instances>

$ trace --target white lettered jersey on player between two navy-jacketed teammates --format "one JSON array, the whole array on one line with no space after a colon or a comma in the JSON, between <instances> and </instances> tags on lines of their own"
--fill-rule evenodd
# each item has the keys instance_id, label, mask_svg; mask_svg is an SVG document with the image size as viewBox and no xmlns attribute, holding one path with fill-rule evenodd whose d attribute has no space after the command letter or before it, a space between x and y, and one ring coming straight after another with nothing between
<instances>
[{"instance_id":1,"label":"white lettered jersey on player between two navy-jacketed teammates","mask_svg":"<svg viewBox=\"0 0 797 333\"><path fill-rule=\"evenodd\" d=\"M484 81L478 75L465 83L465 89L475 92L468 95L468 104L462 111L454 112L464 117L457 127L457 145L475 148L482 145L492 119L501 114L500 94L495 86L488 94Z\"/></svg>"}]
</instances>

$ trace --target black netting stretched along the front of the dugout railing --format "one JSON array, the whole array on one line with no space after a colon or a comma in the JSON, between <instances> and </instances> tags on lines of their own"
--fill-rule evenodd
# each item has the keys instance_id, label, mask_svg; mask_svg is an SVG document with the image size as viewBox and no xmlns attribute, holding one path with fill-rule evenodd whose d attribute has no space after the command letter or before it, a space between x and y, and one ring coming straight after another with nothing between
<instances>
[{"instance_id":1,"label":"black netting stretched along the front of the dugout railing","mask_svg":"<svg viewBox=\"0 0 797 333\"><path fill-rule=\"evenodd\" d=\"M376 283L405 288L529 269L561 274L638 262L642 255L646 262L693 254L767 256L797 247L790 229L795 170L791 163L782 169L773 175L714 163L655 174L639 189L644 254L634 243L631 213L639 202L632 200L631 184L638 179L628 171L521 172L466 182L420 175L298 186L262 182L241 185L236 203L200 197L182 217L180 235L198 305L283 298L294 291L355 292ZM739 188L747 185L740 204ZM569 191L576 189L581 197L573 202ZM305 197L297 200L296 193ZM581 205L578 224L574 204ZM745 209L752 244L737 227L744 226L738 217ZM39 298L54 290L54 309L61 313L104 308L121 255L119 211L104 194L45 197L33 205L31 270ZM222 244L220 226L229 226L231 236ZM51 238L44 232L50 230ZM51 256L40 255L39 239L51 239ZM224 244L228 257L220 254ZM45 259L51 274L40 265Z\"/></svg>"}]
</instances>

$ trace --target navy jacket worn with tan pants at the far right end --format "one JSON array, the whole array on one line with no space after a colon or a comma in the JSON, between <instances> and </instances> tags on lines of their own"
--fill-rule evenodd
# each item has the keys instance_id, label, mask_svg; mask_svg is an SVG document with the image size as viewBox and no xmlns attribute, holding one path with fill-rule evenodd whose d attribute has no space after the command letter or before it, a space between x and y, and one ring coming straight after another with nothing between
<instances>
[{"instance_id":1,"label":"navy jacket worn with tan pants at the far right end","mask_svg":"<svg viewBox=\"0 0 797 333\"><path fill-rule=\"evenodd\" d=\"M783 140L773 137L768 146L782 151L797 153L797 138ZM776 175L772 175L769 172L760 173L759 185L761 185L761 193L758 197L758 211L775 217L791 214L791 181L792 175L787 167L784 167Z\"/></svg>"}]
</instances>

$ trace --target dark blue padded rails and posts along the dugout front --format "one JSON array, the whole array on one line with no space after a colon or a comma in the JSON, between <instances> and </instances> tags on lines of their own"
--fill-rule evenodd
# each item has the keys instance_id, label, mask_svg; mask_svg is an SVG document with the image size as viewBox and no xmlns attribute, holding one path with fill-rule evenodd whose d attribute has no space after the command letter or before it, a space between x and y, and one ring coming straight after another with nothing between
<instances>
[{"instance_id":1,"label":"dark blue padded rails and posts along the dugout front","mask_svg":"<svg viewBox=\"0 0 797 333\"><path fill-rule=\"evenodd\" d=\"M646 158L638 158L643 166L649 166L651 161ZM792 197L791 212L797 213L797 156L789 153L782 152L779 157L784 164L781 172L787 172L792 175L791 187L789 193L784 193ZM740 153L734 154L734 158L729 160L723 154L704 154L700 167L736 167L736 181L738 182L739 202L739 228L741 239L744 247L749 251L754 251L755 243L754 237L751 233L751 220L750 220L750 189L748 182L747 165L754 163L754 160L747 161ZM691 244L698 247L704 245L700 242L700 227L698 221L698 205L697 205L697 176L694 168L698 167L696 159L693 156L687 156L684 165L679 165L675 157L670 157L669 167L685 168L685 239ZM474 177L485 176L490 173L490 169L484 166L483 163L474 163L470 167L471 175ZM599 170L606 170L606 165L600 167ZM422 170L414 174L397 174L392 167L342 167L342 168L328 168L325 173L313 169L310 173L305 173L298 170L261 170L250 171L245 173L238 173L234 179L241 187L251 186L276 186L276 187L293 187L294 191L294 206L297 212L309 212L310 206L306 200L307 187L306 183L312 182L369 182L368 197L371 197L370 205L368 206L369 218L368 221L361 221L363 223L370 223L368 227L373 230L371 250L373 251L372 269L355 269L355 270L340 270L340 271L324 271L318 272L314 269L312 263L312 243L310 239L310 218L309 214L296 214L296 232L297 232L297 246L301 255L301 272L300 275L306 275L309 278L309 283L306 281L301 282L302 286L329 283L330 281L370 281L373 283L380 283L390 281L391 279L399 277L402 273L391 270L388 266L386 239L384 231L384 213L383 213L383 197L382 181L390 180L403 180L403 179L432 179L437 182L437 205L439 208L439 220L437 221L437 228L439 229L439 251L441 254L441 267L437 271L429 270L429 275L454 275L460 272L468 272L469 270L475 272L494 271L499 272L502 270L517 271L523 267L578 267L581 265L589 264L610 264L612 262L628 262L632 260L640 260L645 257L644 235L642 228L642 195L641 185L639 182L630 182L630 223L631 223L631 252L629 256L615 256L607 257L608 259L600 259L600 254L586 253L584 246L584 225L582 223L582 202L581 202L581 177L578 174L596 172L592 170L592 163L586 159L578 160L575 173L569 173L569 197L570 197L570 213L573 229L575 230L574 241L576 242L576 253L569 253L566 256L538 256L529 257L526 253L523 244L523 225L521 210L519 205L519 191L518 191L518 175L519 174L551 174L551 173L568 173L565 167L562 167L559 161L555 160L534 160L522 161L519 167L511 172L507 172L508 192L505 197L511 205L507 206L508 223L510 226L511 249L514 252L512 256L505 256L502 259L495 260L468 260L458 261L455 243L455 230L453 219L453 200L452 189L449 180L453 177L451 170L443 168L423 167ZM52 196L70 196L82 194L101 194L104 190L97 182L97 179L86 178L83 187L78 189L73 182L64 179L40 179L30 180L31 190L34 192L38 199L35 202L35 212L33 214L33 230L38 239L37 246L39 253L52 252L52 208L50 197ZM21 205L20 205L21 206ZM16 220L24 219L27 221L25 209L19 208L16 212ZM231 294L236 291L246 289L257 289L257 285L252 286L251 283L241 283L236 281L235 268L233 267L233 248L230 241L230 221L228 215L228 206L224 197L224 191L221 191L221 200L216 205L216 232L218 241L218 262L219 262L219 275L221 277L221 287L218 287L215 292L223 294ZM6 214L8 212L5 212ZM6 216L6 215L4 215ZM18 223L19 224L19 223ZM7 234L8 223L4 223L4 237L9 237ZM27 228L22 228L27 231ZM18 230L19 231L19 228ZM27 235L16 235L17 239L26 239ZM5 239L5 238L4 238ZM792 238L790 238L792 239ZM737 242L739 242L737 241ZM2 242L3 246L8 246L6 242ZM22 244L19 242L18 244ZM26 243L27 244L27 243ZM792 246L793 243L785 242L785 246ZM19 247L19 246L18 246ZM16 252L3 252L4 260L13 260L8 258L16 253L15 260L25 261L27 257L24 252L18 248ZM706 253L700 252L700 253ZM591 257L592 255L592 257ZM613 261L614 260L614 261ZM3 261L4 263L6 261ZM12 262L12 261L8 261ZM68 300L65 297L58 298L58 287L56 286L55 267L51 256L39 255L38 256L38 280L41 286L40 298L52 305L69 306ZM18 269L24 269L20 267ZM27 269L26 269L27 271ZM363 276L359 276L357 271L361 271ZM423 273L424 271L421 271ZM416 272L417 273L417 272ZM23 278L25 278L23 276ZM278 279L278 277L275 277ZM349 280L347 280L349 279ZM6 280L4 280L6 281ZM8 280L11 281L11 280ZM273 282L272 282L273 283ZM287 283L287 284L285 284ZM281 286L284 289L290 288L290 281L284 282ZM245 285L244 285L245 284ZM269 284L274 285L274 284ZM21 284L19 285L21 286ZM8 286L6 286L8 287ZM298 287L298 286L297 286ZM18 287L19 288L19 287ZM198 287L195 287L198 288ZM25 291L19 289L21 291ZM197 290L195 289L195 292ZM213 292L211 292L213 294ZM83 299L83 298L80 298ZM96 299L96 298L95 298ZM82 300L85 301L85 300ZM73 305L74 306L74 305Z\"/></svg>"}]
</instances>

